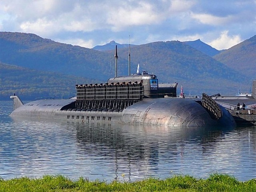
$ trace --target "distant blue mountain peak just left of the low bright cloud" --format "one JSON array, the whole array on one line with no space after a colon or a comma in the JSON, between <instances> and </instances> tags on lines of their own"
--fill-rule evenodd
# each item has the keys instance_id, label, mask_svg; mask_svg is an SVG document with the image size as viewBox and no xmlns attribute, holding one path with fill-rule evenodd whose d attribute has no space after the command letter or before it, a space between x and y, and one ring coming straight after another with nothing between
<instances>
[{"instance_id":1,"label":"distant blue mountain peak just left of the low bright cloud","mask_svg":"<svg viewBox=\"0 0 256 192\"><path fill-rule=\"evenodd\" d=\"M184 43L186 43L189 46L194 47L195 49L205 53L208 56L214 56L216 54L219 54L220 51L211 47L210 45L202 42L200 39L195 40L195 41L184 41Z\"/></svg>"}]
</instances>

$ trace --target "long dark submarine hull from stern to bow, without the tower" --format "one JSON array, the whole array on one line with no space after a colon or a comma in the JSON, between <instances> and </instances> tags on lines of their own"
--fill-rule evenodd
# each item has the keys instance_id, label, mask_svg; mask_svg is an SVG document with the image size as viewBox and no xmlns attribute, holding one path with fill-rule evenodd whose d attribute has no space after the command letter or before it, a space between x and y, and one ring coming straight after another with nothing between
<instances>
[{"instance_id":1,"label":"long dark submarine hull from stern to bow, without the tower","mask_svg":"<svg viewBox=\"0 0 256 192\"><path fill-rule=\"evenodd\" d=\"M16 96L17 97L17 96ZM66 120L69 122L120 122L165 126L235 126L234 119L222 108L223 116L214 120L192 98L148 98L124 110L67 109L76 100L37 100L16 108L14 119Z\"/></svg>"}]
</instances>

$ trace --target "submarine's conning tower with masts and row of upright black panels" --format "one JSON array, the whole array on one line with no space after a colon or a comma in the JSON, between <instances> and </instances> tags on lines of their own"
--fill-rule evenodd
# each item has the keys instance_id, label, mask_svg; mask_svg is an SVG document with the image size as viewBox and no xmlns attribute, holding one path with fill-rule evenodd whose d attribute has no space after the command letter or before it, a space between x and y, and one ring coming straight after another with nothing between
<instances>
[{"instance_id":1,"label":"submarine's conning tower with masts and row of upright black panels","mask_svg":"<svg viewBox=\"0 0 256 192\"><path fill-rule=\"evenodd\" d=\"M158 85L154 74L143 71L128 76L117 76L117 46L115 77L105 84L76 85L76 109L123 110L144 98L176 97L178 83ZM130 63L129 63L130 66ZM130 74L130 69L129 69Z\"/></svg>"}]
</instances>

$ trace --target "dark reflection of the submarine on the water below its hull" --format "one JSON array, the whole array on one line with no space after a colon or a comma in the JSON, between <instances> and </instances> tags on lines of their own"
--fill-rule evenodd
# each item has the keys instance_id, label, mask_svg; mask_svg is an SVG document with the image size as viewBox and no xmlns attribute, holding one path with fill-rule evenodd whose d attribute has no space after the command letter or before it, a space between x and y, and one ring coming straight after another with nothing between
<instances>
[{"instance_id":1,"label":"dark reflection of the submarine on the water below its hull","mask_svg":"<svg viewBox=\"0 0 256 192\"><path fill-rule=\"evenodd\" d=\"M176 154L178 146L183 142L198 142L202 148L205 148L210 143L217 142L218 136L230 129L98 123L76 124L76 131L78 143L85 148L94 144L97 147L107 147L121 152L118 154L120 157L138 153L139 157L143 158L142 154L147 154L146 151L152 155L156 150L166 150Z\"/></svg>"}]
</instances>

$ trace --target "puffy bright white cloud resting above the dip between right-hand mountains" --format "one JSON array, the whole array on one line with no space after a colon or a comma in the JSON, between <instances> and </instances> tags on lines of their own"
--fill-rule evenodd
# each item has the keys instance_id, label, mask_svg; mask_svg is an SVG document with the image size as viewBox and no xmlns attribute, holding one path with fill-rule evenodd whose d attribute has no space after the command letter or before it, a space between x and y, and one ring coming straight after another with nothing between
<instances>
[{"instance_id":1,"label":"puffy bright white cloud resting above the dip between right-hand mountains","mask_svg":"<svg viewBox=\"0 0 256 192\"><path fill-rule=\"evenodd\" d=\"M233 36L228 36L228 31L223 31L220 35L219 38L208 42L210 46L222 50L222 49L228 49L238 43L240 43L242 40L239 35L233 35Z\"/></svg>"}]
</instances>

